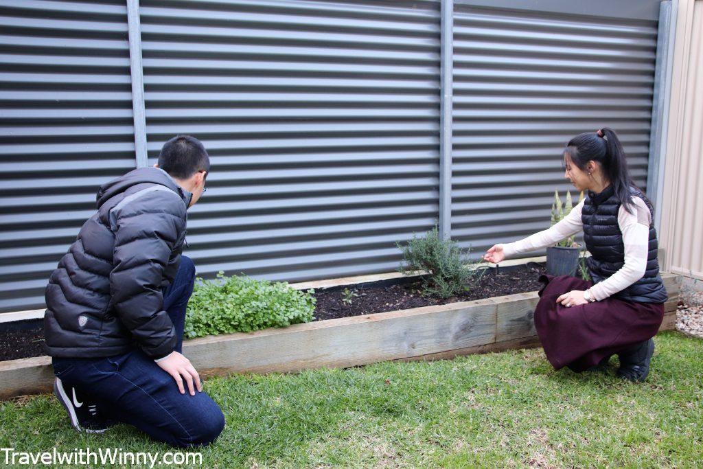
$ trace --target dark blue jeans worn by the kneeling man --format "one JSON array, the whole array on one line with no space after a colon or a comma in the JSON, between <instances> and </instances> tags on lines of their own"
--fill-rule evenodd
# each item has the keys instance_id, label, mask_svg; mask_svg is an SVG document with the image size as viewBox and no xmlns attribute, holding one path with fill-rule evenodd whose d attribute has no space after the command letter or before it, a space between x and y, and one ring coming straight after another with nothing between
<instances>
[{"instance_id":1,"label":"dark blue jeans worn by the kneeling man","mask_svg":"<svg viewBox=\"0 0 703 469\"><path fill-rule=\"evenodd\" d=\"M165 289L164 309L183 344L186 305L193 293L195 266L188 257ZM112 420L134 425L153 439L172 446L209 444L224 428L224 415L205 392L181 394L171 375L139 349L102 358L54 358L54 373L77 388L85 401Z\"/></svg>"}]
</instances>

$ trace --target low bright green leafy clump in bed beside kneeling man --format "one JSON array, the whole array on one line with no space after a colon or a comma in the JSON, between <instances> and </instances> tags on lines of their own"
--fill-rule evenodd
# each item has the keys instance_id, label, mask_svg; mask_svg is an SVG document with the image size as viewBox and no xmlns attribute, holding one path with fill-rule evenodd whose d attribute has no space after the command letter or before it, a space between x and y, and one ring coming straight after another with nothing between
<instances>
[{"instance_id":1,"label":"low bright green leafy clump in bed beside kneeling man","mask_svg":"<svg viewBox=\"0 0 703 469\"><path fill-rule=\"evenodd\" d=\"M198 278L186 311L185 336L251 332L307 323L314 319L315 290L300 291L287 282L248 276Z\"/></svg>"}]
</instances>

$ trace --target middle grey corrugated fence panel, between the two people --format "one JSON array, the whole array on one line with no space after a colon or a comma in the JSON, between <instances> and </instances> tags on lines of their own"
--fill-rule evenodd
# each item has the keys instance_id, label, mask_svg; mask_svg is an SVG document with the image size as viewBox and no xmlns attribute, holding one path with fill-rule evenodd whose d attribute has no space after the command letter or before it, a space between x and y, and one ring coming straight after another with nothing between
<instances>
[{"instance_id":1,"label":"middle grey corrugated fence panel, between the two people","mask_svg":"<svg viewBox=\"0 0 703 469\"><path fill-rule=\"evenodd\" d=\"M150 164L212 161L186 255L302 281L392 271L439 184L439 2L141 1Z\"/></svg>"}]
</instances>

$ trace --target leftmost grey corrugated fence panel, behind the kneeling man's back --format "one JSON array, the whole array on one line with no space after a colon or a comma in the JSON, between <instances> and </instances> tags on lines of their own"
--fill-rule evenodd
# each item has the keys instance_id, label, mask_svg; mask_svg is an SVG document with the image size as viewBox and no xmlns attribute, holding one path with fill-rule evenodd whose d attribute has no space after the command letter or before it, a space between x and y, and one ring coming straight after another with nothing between
<instances>
[{"instance_id":1,"label":"leftmost grey corrugated fence panel, behind the kneeling man's back","mask_svg":"<svg viewBox=\"0 0 703 469\"><path fill-rule=\"evenodd\" d=\"M44 307L51 271L134 168L122 0L0 4L0 312Z\"/></svg>"}]
</instances>

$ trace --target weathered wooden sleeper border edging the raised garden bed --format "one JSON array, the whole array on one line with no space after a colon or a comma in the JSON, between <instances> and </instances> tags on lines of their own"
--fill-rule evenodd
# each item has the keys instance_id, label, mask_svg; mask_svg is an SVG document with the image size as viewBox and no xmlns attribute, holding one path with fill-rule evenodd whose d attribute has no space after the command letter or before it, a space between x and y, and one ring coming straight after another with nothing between
<instances>
[{"instance_id":1,"label":"weathered wooden sleeper border edging the raised garden bed","mask_svg":"<svg viewBox=\"0 0 703 469\"><path fill-rule=\"evenodd\" d=\"M680 277L662 274L669 293L659 330L676 328ZM536 292L272 328L183 342L201 377L347 368L388 360L455 356L538 347ZM0 362L0 399L49 392L49 356Z\"/></svg>"}]
</instances>

